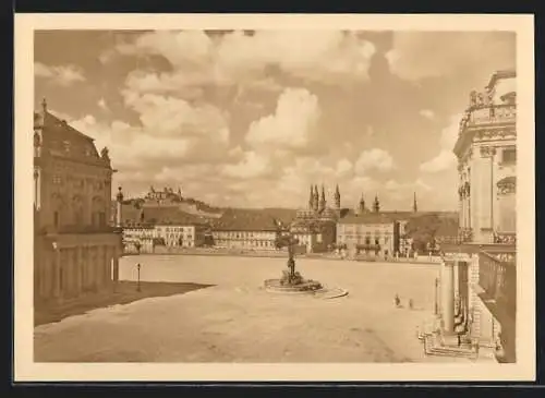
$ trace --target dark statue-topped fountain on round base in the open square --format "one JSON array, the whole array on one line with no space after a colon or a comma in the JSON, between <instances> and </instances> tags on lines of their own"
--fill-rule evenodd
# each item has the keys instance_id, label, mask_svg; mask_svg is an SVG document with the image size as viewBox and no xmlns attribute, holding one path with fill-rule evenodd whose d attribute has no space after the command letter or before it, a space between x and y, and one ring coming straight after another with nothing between
<instances>
[{"instance_id":1,"label":"dark statue-topped fountain on round base in the open square","mask_svg":"<svg viewBox=\"0 0 545 398\"><path fill-rule=\"evenodd\" d=\"M278 225L277 230L277 248L288 248L288 269L282 270L282 277L280 279L267 279L265 280L265 289L271 292L281 293L311 293L317 294L322 293L324 296L326 292L330 297L346 296L348 292L341 289L336 289L335 292L326 289L319 281L305 279L303 276L295 270L295 260L294 260L294 245L299 243L299 240L293 237L291 232L284 232L284 228ZM331 296L331 293L334 293Z\"/></svg>"}]
</instances>

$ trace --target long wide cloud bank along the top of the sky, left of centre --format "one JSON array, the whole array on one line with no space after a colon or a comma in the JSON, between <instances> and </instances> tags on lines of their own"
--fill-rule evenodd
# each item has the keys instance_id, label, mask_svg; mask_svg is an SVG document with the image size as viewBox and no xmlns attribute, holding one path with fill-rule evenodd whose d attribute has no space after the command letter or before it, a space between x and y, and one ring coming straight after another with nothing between
<instances>
[{"instance_id":1,"label":"long wide cloud bank along the top of the sky, left of centre","mask_svg":"<svg viewBox=\"0 0 545 398\"><path fill-rule=\"evenodd\" d=\"M365 81L375 47L339 31L257 31L251 36L233 32L215 38L202 31L160 31L121 44L117 51L167 59L171 71L140 71L126 80L133 89L161 92L267 79L270 65L323 84ZM109 57L105 52L104 58Z\"/></svg>"}]
</instances>

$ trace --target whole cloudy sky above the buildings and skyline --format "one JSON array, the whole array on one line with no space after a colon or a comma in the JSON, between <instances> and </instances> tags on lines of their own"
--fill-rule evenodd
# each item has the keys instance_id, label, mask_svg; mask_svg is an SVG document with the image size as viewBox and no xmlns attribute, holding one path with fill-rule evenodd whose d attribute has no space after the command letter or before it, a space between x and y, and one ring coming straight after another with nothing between
<instances>
[{"instance_id":1,"label":"whole cloudy sky above the buildings and skyline","mask_svg":"<svg viewBox=\"0 0 545 398\"><path fill-rule=\"evenodd\" d=\"M38 32L35 107L107 146L128 196L456 209L460 112L513 67L500 32Z\"/></svg>"}]
</instances>

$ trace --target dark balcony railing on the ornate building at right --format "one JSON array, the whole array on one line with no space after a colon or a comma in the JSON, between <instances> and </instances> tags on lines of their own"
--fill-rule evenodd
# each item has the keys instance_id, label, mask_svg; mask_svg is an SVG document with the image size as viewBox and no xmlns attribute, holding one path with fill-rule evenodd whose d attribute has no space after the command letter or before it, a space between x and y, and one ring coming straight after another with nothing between
<instances>
[{"instance_id":1,"label":"dark balcony railing on the ornate building at right","mask_svg":"<svg viewBox=\"0 0 545 398\"><path fill-rule=\"evenodd\" d=\"M486 298L513 314L517 300L516 253L479 253L479 285Z\"/></svg>"}]
</instances>

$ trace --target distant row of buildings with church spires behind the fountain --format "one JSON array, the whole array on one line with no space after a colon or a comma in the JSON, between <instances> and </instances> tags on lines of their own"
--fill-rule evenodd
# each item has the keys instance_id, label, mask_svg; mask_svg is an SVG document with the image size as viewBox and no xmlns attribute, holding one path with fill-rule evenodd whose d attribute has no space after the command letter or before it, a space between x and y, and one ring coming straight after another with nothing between
<instances>
[{"instance_id":1,"label":"distant row of buildings with church spires behind the fountain","mask_svg":"<svg viewBox=\"0 0 545 398\"><path fill-rule=\"evenodd\" d=\"M166 189L165 194L172 195ZM123 241L129 252L152 252L157 246L216 246L238 250L277 250L279 222L299 240L300 252L318 253L335 249L352 249L384 256L407 253L410 242L403 239L404 226L413 212L380 212L375 196L373 212L362 198L355 210L341 208L339 188L335 190L335 207L327 206L325 190L318 194L311 186L308 207L289 209L226 209L217 217L189 214L185 207L152 206L157 200L152 191L144 206L122 206ZM161 192L162 195L162 192Z\"/></svg>"}]
</instances>

